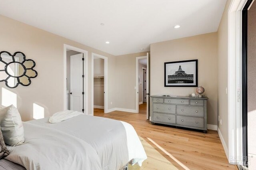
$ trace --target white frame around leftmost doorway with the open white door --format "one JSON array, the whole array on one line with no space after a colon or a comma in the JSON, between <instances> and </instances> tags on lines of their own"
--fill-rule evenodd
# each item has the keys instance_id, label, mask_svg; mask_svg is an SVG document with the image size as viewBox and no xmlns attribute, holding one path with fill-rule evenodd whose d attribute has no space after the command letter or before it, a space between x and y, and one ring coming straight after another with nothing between
<instances>
[{"instance_id":1,"label":"white frame around leftmost doorway with the open white door","mask_svg":"<svg viewBox=\"0 0 256 170\"><path fill-rule=\"evenodd\" d=\"M67 89L67 49L71 49L73 51L78 51L83 53L84 55L84 114L88 115L88 51L84 49L80 49L77 47L73 47L71 45L64 44L63 49L63 109L66 110L67 107L67 99L66 99L66 89Z\"/></svg>"}]
</instances>

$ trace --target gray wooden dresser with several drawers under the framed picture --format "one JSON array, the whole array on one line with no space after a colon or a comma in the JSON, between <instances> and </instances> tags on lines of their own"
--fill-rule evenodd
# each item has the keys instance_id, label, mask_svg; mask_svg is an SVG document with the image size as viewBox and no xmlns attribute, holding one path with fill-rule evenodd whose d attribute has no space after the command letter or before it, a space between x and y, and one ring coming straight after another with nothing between
<instances>
[{"instance_id":1,"label":"gray wooden dresser with several drawers under the framed picture","mask_svg":"<svg viewBox=\"0 0 256 170\"><path fill-rule=\"evenodd\" d=\"M151 123L173 125L207 132L207 97L152 95Z\"/></svg>"}]
</instances>

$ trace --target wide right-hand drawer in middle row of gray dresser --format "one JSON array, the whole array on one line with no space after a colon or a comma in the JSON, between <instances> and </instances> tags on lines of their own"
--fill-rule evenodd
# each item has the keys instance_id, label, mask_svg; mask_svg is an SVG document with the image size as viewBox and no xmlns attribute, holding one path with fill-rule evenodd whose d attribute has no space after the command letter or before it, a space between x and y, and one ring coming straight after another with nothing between
<instances>
[{"instance_id":1,"label":"wide right-hand drawer in middle row of gray dresser","mask_svg":"<svg viewBox=\"0 0 256 170\"><path fill-rule=\"evenodd\" d=\"M204 117L204 107L177 105L177 114Z\"/></svg>"}]
</instances>

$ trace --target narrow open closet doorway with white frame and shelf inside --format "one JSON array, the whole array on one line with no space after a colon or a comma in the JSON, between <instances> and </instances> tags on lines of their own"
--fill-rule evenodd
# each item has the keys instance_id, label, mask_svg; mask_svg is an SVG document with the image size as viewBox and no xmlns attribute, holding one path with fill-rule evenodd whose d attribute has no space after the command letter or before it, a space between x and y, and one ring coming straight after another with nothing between
<instances>
[{"instance_id":1,"label":"narrow open closet doorway with white frame and shelf inside","mask_svg":"<svg viewBox=\"0 0 256 170\"><path fill-rule=\"evenodd\" d=\"M108 113L108 58L92 53L92 114L95 109Z\"/></svg>"}]
</instances>

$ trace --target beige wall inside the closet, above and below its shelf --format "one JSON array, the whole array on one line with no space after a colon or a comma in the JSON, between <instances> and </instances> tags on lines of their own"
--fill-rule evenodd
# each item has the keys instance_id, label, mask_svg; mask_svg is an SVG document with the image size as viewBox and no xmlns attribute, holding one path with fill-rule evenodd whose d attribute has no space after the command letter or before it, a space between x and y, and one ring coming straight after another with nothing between
<instances>
[{"instance_id":1,"label":"beige wall inside the closet, above and below its shelf","mask_svg":"<svg viewBox=\"0 0 256 170\"><path fill-rule=\"evenodd\" d=\"M94 76L104 76L104 59L94 59ZM94 105L104 106L104 78L94 78Z\"/></svg>"}]
</instances>

